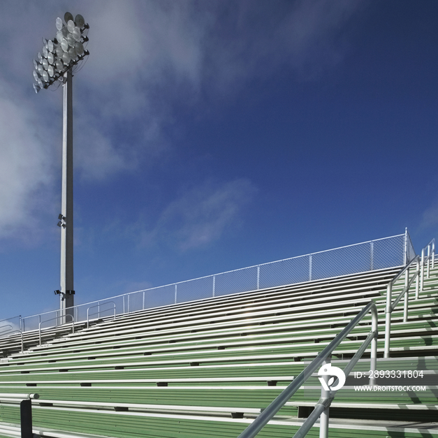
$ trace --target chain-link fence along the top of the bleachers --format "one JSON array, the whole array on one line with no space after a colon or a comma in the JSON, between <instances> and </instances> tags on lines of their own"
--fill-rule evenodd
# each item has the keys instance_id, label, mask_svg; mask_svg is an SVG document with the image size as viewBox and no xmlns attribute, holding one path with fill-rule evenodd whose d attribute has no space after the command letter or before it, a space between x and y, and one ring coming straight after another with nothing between
<instances>
[{"instance_id":1,"label":"chain-link fence along the top of the bleachers","mask_svg":"<svg viewBox=\"0 0 438 438\"><path fill-rule=\"evenodd\" d=\"M73 316L77 322L91 321L202 298L393 268L409 263L415 255L411 238L406 231L390 238L328 249L88 302L75 306ZM62 322L60 315L60 311L55 310L27 316L22 319L21 328L27 331L38 329L40 324L41 328L57 326Z\"/></svg>"}]
</instances>

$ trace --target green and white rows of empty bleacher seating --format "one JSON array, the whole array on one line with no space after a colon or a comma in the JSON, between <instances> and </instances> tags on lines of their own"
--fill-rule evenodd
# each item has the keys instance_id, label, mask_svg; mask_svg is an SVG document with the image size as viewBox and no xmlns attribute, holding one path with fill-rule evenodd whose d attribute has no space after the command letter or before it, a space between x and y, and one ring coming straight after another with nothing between
<instances>
[{"instance_id":1,"label":"green and white rows of empty bleacher seating","mask_svg":"<svg viewBox=\"0 0 438 438\"><path fill-rule=\"evenodd\" d=\"M398 268L236 293L97 319L0 341L0 437L20 437L20 407L34 394L36 437L235 438L374 300L378 370L425 370L412 397L346 393L330 407L330 437L438 437L438 267L392 314L384 358L386 286ZM404 280L395 284L401 291ZM370 331L366 316L333 353L344 368ZM367 350L354 371L370 368ZM364 381L361 381L364 384ZM366 382L365 382L366 384ZM316 376L257 437L292 437L318 402ZM347 388L348 389L348 388ZM315 395L316 394L316 395ZM343 395L346 394L346 395ZM319 436L318 424L307 434Z\"/></svg>"}]
</instances>

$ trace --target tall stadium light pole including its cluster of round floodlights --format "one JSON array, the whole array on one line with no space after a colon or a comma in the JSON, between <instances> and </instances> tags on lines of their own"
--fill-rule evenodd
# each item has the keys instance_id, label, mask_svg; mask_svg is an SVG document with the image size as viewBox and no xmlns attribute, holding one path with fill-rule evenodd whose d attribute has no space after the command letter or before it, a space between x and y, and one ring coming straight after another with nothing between
<instances>
[{"instance_id":1,"label":"tall stadium light pole including its cluster of round floodlights","mask_svg":"<svg viewBox=\"0 0 438 438\"><path fill-rule=\"evenodd\" d=\"M43 38L42 54L34 60L34 90L48 89L51 85L62 83L63 117L62 117L62 184L61 214L58 226L61 228L61 272L60 288L54 291L60 297L61 323L70 315L74 320L74 285L73 285L73 68L89 54L84 49L87 43L89 25L82 15L67 12L64 21L57 18L57 34L52 40Z\"/></svg>"}]
</instances>

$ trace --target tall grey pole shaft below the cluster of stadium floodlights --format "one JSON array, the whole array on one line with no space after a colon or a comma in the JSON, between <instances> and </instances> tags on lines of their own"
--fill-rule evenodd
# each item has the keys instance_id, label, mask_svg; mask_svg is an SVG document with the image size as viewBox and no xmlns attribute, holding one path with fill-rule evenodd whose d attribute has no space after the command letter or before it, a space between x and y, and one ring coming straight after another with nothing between
<instances>
[{"instance_id":1,"label":"tall grey pole shaft below the cluster of stadium floodlights","mask_svg":"<svg viewBox=\"0 0 438 438\"><path fill-rule=\"evenodd\" d=\"M62 117L62 194L61 214L61 315L73 315L73 101L71 70L64 73Z\"/></svg>"}]
</instances>

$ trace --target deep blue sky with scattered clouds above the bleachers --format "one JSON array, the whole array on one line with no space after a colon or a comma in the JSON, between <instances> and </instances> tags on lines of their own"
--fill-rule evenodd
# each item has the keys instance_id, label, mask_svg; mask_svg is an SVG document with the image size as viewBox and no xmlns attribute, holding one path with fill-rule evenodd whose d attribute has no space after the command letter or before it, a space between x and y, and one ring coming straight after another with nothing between
<instances>
[{"instance_id":1,"label":"deep blue sky with scattered clouds above the bleachers","mask_svg":"<svg viewBox=\"0 0 438 438\"><path fill-rule=\"evenodd\" d=\"M66 10L75 302L401 234L437 235L438 3L0 3L0 318L56 309Z\"/></svg>"}]
</instances>

